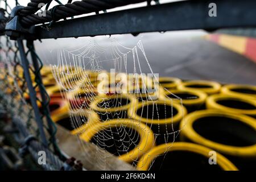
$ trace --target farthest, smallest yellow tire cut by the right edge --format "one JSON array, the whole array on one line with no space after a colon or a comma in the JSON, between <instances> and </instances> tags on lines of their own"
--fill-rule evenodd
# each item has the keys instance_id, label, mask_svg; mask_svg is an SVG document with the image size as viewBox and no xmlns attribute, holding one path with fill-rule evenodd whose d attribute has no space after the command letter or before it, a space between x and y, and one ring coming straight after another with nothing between
<instances>
[{"instance_id":1,"label":"farthest, smallest yellow tire cut by the right edge","mask_svg":"<svg viewBox=\"0 0 256 182\"><path fill-rule=\"evenodd\" d=\"M228 85L222 86L221 93L229 96L233 96L233 97L247 96L255 100L256 86L228 84Z\"/></svg>"}]
</instances>

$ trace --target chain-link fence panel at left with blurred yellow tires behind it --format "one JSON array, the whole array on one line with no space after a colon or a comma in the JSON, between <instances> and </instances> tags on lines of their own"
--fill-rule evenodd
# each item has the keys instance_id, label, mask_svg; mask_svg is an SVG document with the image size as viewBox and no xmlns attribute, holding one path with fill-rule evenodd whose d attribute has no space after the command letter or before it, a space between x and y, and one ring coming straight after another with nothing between
<instances>
[{"instance_id":1,"label":"chain-link fence panel at left with blurred yellow tires behind it","mask_svg":"<svg viewBox=\"0 0 256 182\"><path fill-rule=\"evenodd\" d=\"M42 167L57 170L65 158L56 144L56 127L49 116L49 97L40 75L43 64L32 42L27 41L24 48L22 40L5 36L5 24L13 8L10 2L14 5L14 1L1 1L1 115L11 127L7 131L13 133L20 144L20 156L29 152L37 162L39 151L44 151L47 163ZM19 5L18 1L15 5Z\"/></svg>"}]
</instances>

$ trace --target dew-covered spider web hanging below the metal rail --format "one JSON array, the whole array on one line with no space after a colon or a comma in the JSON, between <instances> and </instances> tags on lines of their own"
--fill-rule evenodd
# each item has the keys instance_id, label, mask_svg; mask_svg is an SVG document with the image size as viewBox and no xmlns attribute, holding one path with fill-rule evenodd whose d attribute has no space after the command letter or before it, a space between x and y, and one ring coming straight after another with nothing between
<instances>
[{"instance_id":1,"label":"dew-covered spider web hanging below the metal rail","mask_svg":"<svg viewBox=\"0 0 256 182\"><path fill-rule=\"evenodd\" d=\"M73 133L83 147L88 142L97 146L98 159L86 162L104 169L106 158L115 155L137 167L154 146L175 142L180 130L173 122L174 100L180 102L181 117L184 107L181 98L159 84L141 40L129 48L110 39L107 47L90 40L86 46L58 50L51 69L69 103Z\"/></svg>"}]
</instances>

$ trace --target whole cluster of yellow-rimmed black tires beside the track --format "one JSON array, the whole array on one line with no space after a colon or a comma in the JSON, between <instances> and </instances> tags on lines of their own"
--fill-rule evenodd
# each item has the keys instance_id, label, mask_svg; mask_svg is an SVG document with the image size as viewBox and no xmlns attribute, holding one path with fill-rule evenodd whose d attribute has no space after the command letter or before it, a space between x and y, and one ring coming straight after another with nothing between
<instances>
[{"instance_id":1,"label":"whole cluster of yellow-rimmed black tires beside the track","mask_svg":"<svg viewBox=\"0 0 256 182\"><path fill-rule=\"evenodd\" d=\"M90 74L97 88L97 73ZM68 111L81 106L74 100L79 101L88 90L80 89L65 99L51 72L44 72L43 82L52 103L58 105L52 109L53 121L68 125ZM136 162L138 170L237 170L255 166L256 86L174 77L159 77L159 85L159 97L154 101L152 93L100 94L94 90L84 112L72 115L86 121L74 121L67 129L86 142L95 143L98 131L125 126L127 132L139 139L133 148L125 152L106 150L118 153L118 158L125 162ZM121 105L117 106L117 102ZM158 114L152 112L155 105ZM171 138L166 138L166 133L172 133Z\"/></svg>"}]
</instances>

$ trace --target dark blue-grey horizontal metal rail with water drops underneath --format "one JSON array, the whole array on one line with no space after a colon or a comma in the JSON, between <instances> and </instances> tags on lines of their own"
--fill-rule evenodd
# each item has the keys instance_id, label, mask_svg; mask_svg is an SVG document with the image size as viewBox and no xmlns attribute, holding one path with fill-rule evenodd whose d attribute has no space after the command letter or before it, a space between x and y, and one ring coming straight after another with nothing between
<instances>
[{"instance_id":1,"label":"dark blue-grey horizontal metal rail with water drops underneath","mask_svg":"<svg viewBox=\"0 0 256 182\"><path fill-rule=\"evenodd\" d=\"M217 16L210 17L209 3L216 3ZM97 14L53 23L50 30L35 27L37 39L70 38L171 30L217 30L255 27L256 1L180 1Z\"/></svg>"}]
</instances>

